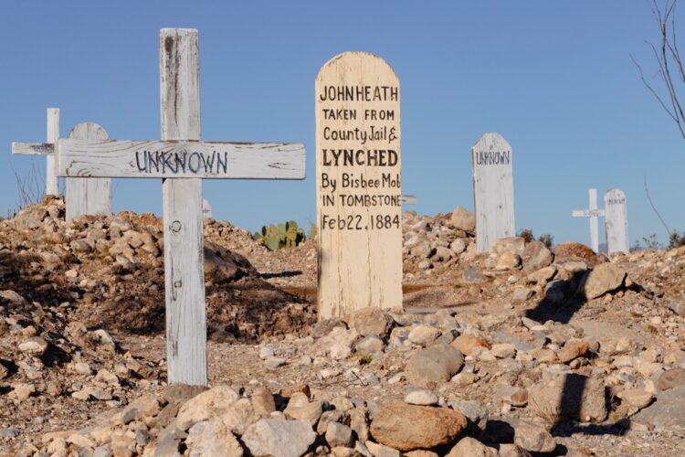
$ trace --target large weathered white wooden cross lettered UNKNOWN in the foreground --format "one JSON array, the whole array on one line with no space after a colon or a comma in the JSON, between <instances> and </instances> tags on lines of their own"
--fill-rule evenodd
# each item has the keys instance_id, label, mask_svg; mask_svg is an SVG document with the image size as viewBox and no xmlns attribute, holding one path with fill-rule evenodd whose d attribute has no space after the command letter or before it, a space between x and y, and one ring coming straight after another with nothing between
<instances>
[{"instance_id":1,"label":"large weathered white wooden cross lettered UNKNOWN in the foreground","mask_svg":"<svg viewBox=\"0 0 685 457\"><path fill-rule=\"evenodd\" d=\"M197 30L160 31L161 141L59 140L58 173L163 178L168 382L207 383L202 178L304 179L302 143L200 142Z\"/></svg>"}]
</instances>

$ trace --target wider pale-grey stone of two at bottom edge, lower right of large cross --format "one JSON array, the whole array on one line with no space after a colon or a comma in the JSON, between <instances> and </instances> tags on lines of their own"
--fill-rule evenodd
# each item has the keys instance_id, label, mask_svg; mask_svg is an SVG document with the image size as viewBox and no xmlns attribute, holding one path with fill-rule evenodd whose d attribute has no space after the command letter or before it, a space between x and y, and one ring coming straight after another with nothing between
<instances>
[{"instance_id":1,"label":"wider pale-grey stone of two at bottom edge, lower right of large cross","mask_svg":"<svg viewBox=\"0 0 685 457\"><path fill-rule=\"evenodd\" d=\"M300 457L316 441L316 433L305 420L262 419L245 431L242 441L255 457Z\"/></svg>"}]
</instances>

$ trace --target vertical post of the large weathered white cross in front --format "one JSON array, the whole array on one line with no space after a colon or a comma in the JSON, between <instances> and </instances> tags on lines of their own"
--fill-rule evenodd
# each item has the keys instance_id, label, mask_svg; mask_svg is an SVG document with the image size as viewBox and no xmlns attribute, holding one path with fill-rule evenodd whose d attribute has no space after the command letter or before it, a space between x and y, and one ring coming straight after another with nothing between
<instances>
[{"instance_id":1,"label":"vertical post of the large weathered white cross in front","mask_svg":"<svg viewBox=\"0 0 685 457\"><path fill-rule=\"evenodd\" d=\"M200 140L197 30L160 31L162 140ZM202 179L163 179L169 384L207 384Z\"/></svg>"}]
</instances>

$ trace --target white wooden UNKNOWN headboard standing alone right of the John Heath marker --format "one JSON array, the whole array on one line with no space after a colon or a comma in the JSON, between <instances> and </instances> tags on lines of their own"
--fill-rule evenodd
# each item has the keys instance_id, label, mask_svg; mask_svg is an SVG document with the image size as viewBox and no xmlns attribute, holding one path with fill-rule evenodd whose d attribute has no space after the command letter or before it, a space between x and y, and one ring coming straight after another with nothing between
<instances>
[{"instance_id":1,"label":"white wooden UNKNOWN headboard standing alone right of the John Heath marker","mask_svg":"<svg viewBox=\"0 0 685 457\"><path fill-rule=\"evenodd\" d=\"M479 252L515 234L512 154L500 133L484 133L471 148Z\"/></svg>"}]
</instances>

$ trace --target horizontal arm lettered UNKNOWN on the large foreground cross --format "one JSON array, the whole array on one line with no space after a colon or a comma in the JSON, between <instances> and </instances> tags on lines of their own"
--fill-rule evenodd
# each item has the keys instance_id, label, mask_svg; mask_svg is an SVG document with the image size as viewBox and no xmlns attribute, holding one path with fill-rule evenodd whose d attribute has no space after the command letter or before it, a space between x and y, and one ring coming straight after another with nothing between
<instances>
[{"instance_id":1,"label":"horizontal arm lettered UNKNOWN on the large foreground cross","mask_svg":"<svg viewBox=\"0 0 685 457\"><path fill-rule=\"evenodd\" d=\"M303 143L59 140L58 175L304 179Z\"/></svg>"}]
</instances>

